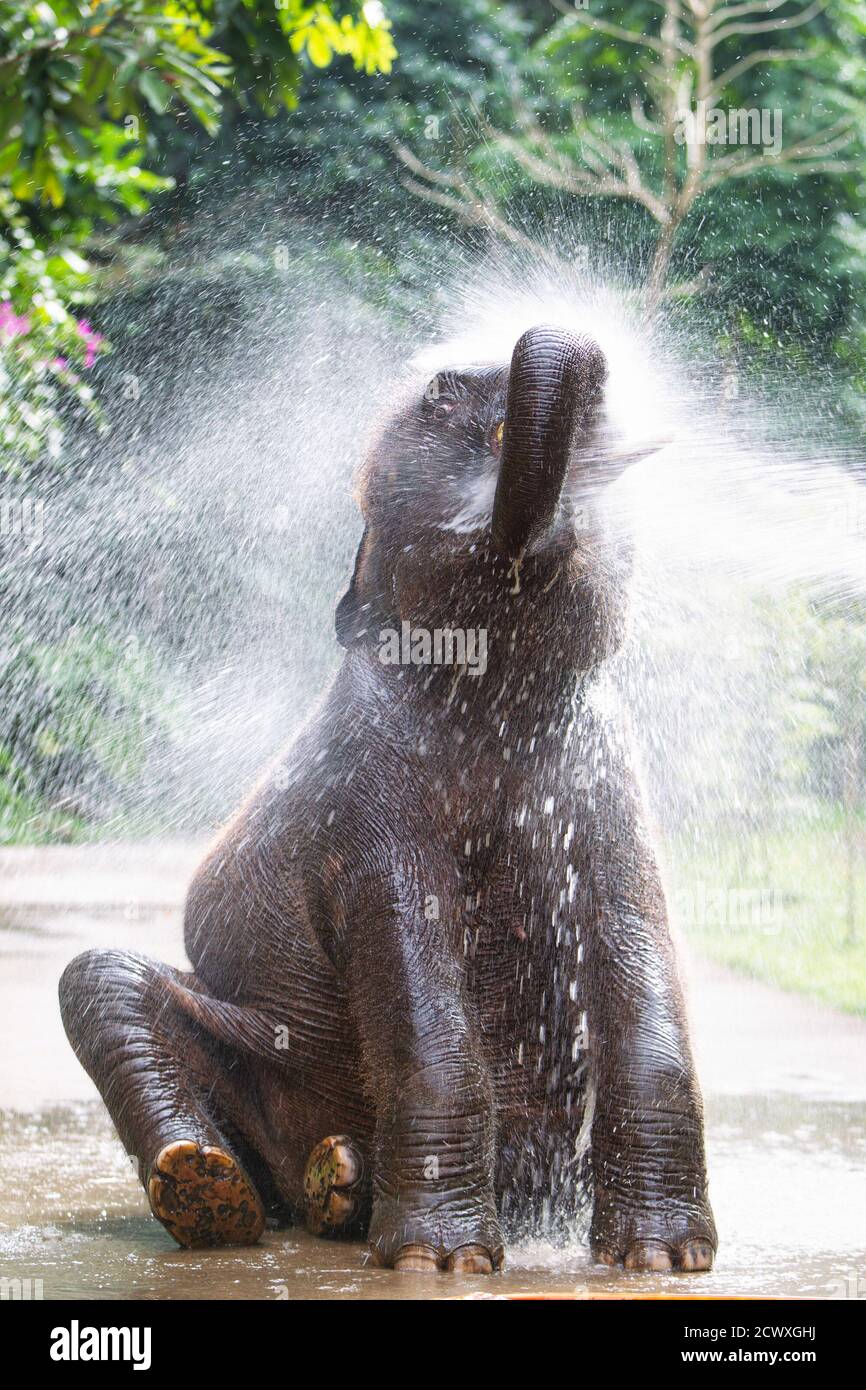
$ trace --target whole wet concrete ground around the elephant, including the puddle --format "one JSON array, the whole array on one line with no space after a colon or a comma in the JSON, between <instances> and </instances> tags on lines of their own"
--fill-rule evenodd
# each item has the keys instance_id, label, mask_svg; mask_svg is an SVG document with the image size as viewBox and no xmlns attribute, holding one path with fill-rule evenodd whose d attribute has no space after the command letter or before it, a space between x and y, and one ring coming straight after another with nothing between
<instances>
[{"instance_id":1,"label":"whole wet concrete ground around the elephant, including the puddle","mask_svg":"<svg viewBox=\"0 0 866 1390\"><path fill-rule=\"evenodd\" d=\"M183 1252L70 1049L57 979L89 945L183 965L200 847L0 851L0 1279L44 1298L445 1298L521 1293L866 1297L866 1023L685 960L720 1251L628 1275L585 1245L509 1250L493 1279L392 1275L360 1244L267 1232Z\"/></svg>"}]
</instances>

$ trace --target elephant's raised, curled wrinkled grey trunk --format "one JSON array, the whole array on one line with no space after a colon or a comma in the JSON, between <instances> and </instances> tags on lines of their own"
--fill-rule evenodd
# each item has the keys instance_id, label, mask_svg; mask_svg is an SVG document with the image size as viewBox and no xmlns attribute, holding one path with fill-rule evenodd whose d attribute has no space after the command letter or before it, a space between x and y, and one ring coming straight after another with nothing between
<instances>
[{"instance_id":1,"label":"elephant's raised, curled wrinkled grey trunk","mask_svg":"<svg viewBox=\"0 0 866 1390\"><path fill-rule=\"evenodd\" d=\"M553 521L575 432L585 424L606 375L591 338L539 324L512 354L493 499L493 545L520 559Z\"/></svg>"}]
</instances>

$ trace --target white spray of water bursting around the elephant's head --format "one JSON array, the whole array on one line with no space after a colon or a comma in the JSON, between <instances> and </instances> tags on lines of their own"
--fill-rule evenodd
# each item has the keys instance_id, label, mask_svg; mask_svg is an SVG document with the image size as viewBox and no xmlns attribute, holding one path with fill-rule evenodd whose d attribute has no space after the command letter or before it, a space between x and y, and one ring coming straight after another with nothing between
<instances>
[{"instance_id":1,"label":"white spray of water bursting around the elephant's head","mask_svg":"<svg viewBox=\"0 0 866 1390\"><path fill-rule=\"evenodd\" d=\"M774 714L798 681L838 696L815 614L862 630L862 452L833 389L723 357L694 313L651 318L626 281L560 257L456 253L449 279L431 274L430 306L396 327L321 274L300 278L292 304L250 296L228 343L183 364L168 403L145 395L117 413L110 463L44 489L44 542L14 567L26 632L63 645L76 628L111 630L131 678L139 662L164 685L164 717L143 709L101 833L185 834L232 808L339 659L332 612L360 532L352 477L375 420L409 381L507 360L524 328L552 321L603 348L624 445L667 441L606 505L637 538L619 674L673 894L695 873L731 878L730 863L695 869L713 835L755 877L758 821L787 817L801 835L830 805L809 778L840 787L855 756L828 734L823 767L798 783ZM24 710L28 680L25 667ZM64 776L72 805L99 819L99 777L88 788L75 759ZM830 831L842 858L858 815L849 806ZM762 873L790 888L778 867Z\"/></svg>"}]
</instances>

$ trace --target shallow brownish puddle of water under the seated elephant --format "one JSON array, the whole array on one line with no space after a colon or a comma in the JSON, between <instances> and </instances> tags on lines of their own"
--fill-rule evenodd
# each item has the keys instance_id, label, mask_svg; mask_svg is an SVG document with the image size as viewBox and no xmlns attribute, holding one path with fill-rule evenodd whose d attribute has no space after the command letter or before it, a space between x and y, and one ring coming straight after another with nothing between
<instances>
[{"instance_id":1,"label":"shallow brownish puddle of water under the seated elephant","mask_svg":"<svg viewBox=\"0 0 866 1390\"><path fill-rule=\"evenodd\" d=\"M179 1251L96 1102L0 1123L0 1270L42 1280L44 1298L496 1298L525 1293L866 1295L855 1238L866 1108L721 1099L709 1116L712 1195L721 1233L709 1275L627 1275L582 1244L509 1248L493 1279L392 1275L360 1243L268 1230L236 1251ZM748 1175L748 1179L746 1179ZM858 1290L859 1284L859 1290Z\"/></svg>"}]
</instances>

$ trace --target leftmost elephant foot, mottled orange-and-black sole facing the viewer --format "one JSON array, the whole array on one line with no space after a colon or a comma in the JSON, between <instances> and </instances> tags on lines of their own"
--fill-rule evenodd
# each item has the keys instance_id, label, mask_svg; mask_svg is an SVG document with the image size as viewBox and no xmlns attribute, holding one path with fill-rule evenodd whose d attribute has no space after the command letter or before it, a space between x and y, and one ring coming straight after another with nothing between
<instances>
[{"instance_id":1,"label":"leftmost elephant foot, mottled orange-and-black sole facing the viewer","mask_svg":"<svg viewBox=\"0 0 866 1390\"><path fill-rule=\"evenodd\" d=\"M179 1138L156 1156L147 1180L153 1215L178 1245L254 1245L264 1208L239 1163L224 1148Z\"/></svg>"}]
</instances>

